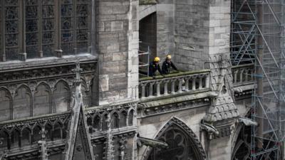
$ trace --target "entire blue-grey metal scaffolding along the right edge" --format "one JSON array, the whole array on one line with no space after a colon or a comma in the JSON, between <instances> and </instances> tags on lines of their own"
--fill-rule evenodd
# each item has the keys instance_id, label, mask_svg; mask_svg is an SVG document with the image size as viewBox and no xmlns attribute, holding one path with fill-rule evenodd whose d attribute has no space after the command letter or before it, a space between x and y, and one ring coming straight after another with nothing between
<instances>
[{"instance_id":1,"label":"entire blue-grey metal scaffolding along the right edge","mask_svg":"<svg viewBox=\"0 0 285 160\"><path fill-rule=\"evenodd\" d=\"M284 0L232 0L232 64L254 63L251 156L284 159Z\"/></svg>"}]
</instances>

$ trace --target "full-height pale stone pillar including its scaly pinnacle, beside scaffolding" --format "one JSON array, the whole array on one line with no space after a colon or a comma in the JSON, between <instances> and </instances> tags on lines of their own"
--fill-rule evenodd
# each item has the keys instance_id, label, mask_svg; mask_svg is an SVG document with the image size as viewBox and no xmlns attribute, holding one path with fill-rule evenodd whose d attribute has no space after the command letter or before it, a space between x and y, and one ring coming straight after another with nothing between
<instances>
[{"instance_id":1,"label":"full-height pale stone pillar including its scaly pinnacle, beside scaffolding","mask_svg":"<svg viewBox=\"0 0 285 160\"><path fill-rule=\"evenodd\" d=\"M232 71L230 64L230 28L231 28L231 1L210 0L209 1L209 61L211 69L212 90L218 92L215 100L212 100L209 112L204 118L208 124L214 124L219 134L208 139L208 159L227 160L231 159L231 137L234 121L239 115L234 105L234 95L230 92L232 87ZM223 92L223 88L227 91ZM231 106L231 110L220 110L224 103ZM215 112L219 110L219 113ZM231 117L227 115L231 114ZM217 118L215 118L217 117Z\"/></svg>"}]
</instances>

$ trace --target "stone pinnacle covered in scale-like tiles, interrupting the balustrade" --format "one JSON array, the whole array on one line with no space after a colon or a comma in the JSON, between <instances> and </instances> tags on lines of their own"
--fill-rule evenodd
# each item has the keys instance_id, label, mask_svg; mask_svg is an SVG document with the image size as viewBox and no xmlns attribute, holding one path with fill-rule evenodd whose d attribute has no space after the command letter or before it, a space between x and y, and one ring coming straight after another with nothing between
<instances>
[{"instance_id":1,"label":"stone pinnacle covered in scale-like tiles, interrupting the balustrade","mask_svg":"<svg viewBox=\"0 0 285 160\"><path fill-rule=\"evenodd\" d=\"M232 119L239 116L239 111L234 105L234 93L232 86L232 65L229 58L222 55L214 58L212 66L212 90L217 92L217 97L212 100L209 112L204 117L205 122L213 123L224 119Z\"/></svg>"}]
</instances>

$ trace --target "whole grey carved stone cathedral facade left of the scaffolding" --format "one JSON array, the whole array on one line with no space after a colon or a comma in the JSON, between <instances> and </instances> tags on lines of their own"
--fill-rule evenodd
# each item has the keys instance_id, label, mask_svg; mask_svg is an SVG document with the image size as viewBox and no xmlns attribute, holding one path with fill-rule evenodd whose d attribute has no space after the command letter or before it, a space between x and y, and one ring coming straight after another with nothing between
<instances>
[{"instance_id":1,"label":"whole grey carved stone cathedral facade left of the scaffolding","mask_svg":"<svg viewBox=\"0 0 285 160\"><path fill-rule=\"evenodd\" d=\"M232 159L254 86L230 63L230 1L92 5L94 52L0 62L0 160ZM140 38L185 72L139 78Z\"/></svg>"}]
</instances>

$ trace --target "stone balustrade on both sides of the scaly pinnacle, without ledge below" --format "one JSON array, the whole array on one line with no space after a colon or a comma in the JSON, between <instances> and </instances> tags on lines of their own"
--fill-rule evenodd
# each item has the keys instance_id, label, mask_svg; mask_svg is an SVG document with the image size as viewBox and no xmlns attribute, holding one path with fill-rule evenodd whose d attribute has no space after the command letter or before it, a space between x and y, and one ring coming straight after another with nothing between
<instances>
[{"instance_id":1,"label":"stone balustrade on both sides of the scaly pinnacle, without ledge below","mask_svg":"<svg viewBox=\"0 0 285 160\"><path fill-rule=\"evenodd\" d=\"M234 91L252 90L254 85L254 64L232 67ZM193 94L209 91L210 70L195 70L140 78L140 101L163 98L172 95Z\"/></svg>"}]
</instances>

